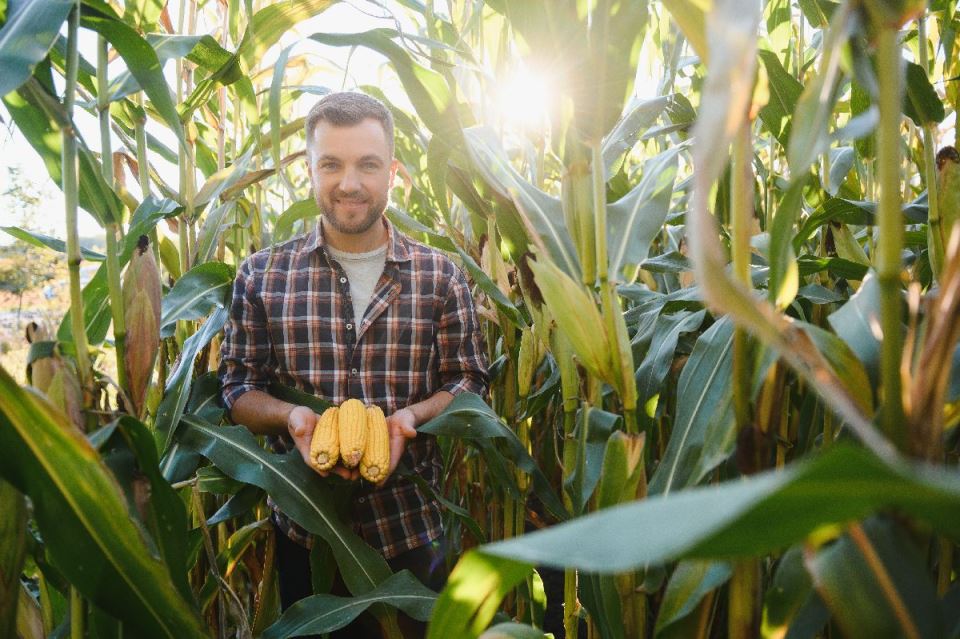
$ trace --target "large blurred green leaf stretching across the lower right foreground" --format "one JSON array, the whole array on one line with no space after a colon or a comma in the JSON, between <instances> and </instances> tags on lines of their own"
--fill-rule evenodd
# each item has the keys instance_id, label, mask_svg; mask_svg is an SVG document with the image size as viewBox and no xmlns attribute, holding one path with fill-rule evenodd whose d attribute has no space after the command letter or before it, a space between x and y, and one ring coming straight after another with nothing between
<instances>
[{"instance_id":1,"label":"large blurred green leaf stretching across the lower right foreground","mask_svg":"<svg viewBox=\"0 0 960 639\"><path fill-rule=\"evenodd\" d=\"M790 517L775 516L785 508ZM756 557L883 509L960 539L960 474L883 462L837 444L785 469L649 497L480 551L524 564L619 573L683 558Z\"/></svg>"}]
</instances>

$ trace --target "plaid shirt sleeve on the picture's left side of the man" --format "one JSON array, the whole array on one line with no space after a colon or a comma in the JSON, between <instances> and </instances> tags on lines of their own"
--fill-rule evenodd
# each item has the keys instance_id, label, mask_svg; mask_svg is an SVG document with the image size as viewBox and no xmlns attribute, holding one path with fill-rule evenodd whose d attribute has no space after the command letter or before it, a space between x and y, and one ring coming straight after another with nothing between
<instances>
[{"instance_id":1,"label":"plaid shirt sleeve on the picture's left side of the man","mask_svg":"<svg viewBox=\"0 0 960 639\"><path fill-rule=\"evenodd\" d=\"M220 346L220 378L223 403L229 411L250 390L266 391L270 382L272 350L267 317L257 295L256 275L250 260L244 261L233 283L230 315Z\"/></svg>"}]
</instances>

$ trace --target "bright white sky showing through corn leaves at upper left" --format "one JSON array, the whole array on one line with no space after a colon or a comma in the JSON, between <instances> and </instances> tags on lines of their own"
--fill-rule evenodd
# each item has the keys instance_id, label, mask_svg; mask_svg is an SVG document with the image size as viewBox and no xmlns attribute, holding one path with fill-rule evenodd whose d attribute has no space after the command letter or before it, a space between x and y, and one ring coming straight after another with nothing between
<instances>
[{"instance_id":1,"label":"bright white sky showing through corn leaves at upper left","mask_svg":"<svg viewBox=\"0 0 960 639\"><path fill-rule=\"evenodd\" d=\"M170 3L171 7L177 3ZM349 58L349 75L344 74L342 68L346 66L349 49L344 47L327 47L316 42L307 40L307 36L316 32L342 32L352 33L365 31L367 29L378 27L393 27L392 19L383 19L384 12L377 6L362 1L341 2L333 5L312 20L295 27L281 39L278 46L271 49L264 60L262 68L269 69L270 65L276 60L280 51L285 47L298 43L291 51L291 58L299 53L313 52L316 55L310 60L320 60L322 58L330 60L333 64L319 64L317 71L305 84L315 84L328 86L333 89L352 88L359 84L380 84L381 88L390 96L396 99L403 106L405 97L399 87L399 83L391 76L383 72L385 58L380 54L364 48L358 48ZM402 17L402 16L401 16ZM171 16L174 24L177 23L176 15ZM404 19L404 27L415 29L409 22L409 18ZM86 29L81 29L80 51L87 60L96 61L96 40L94 34ZM168 61L165 71L172 77L174 61ZM337 69L336 67L341 67ZM110 75L114 77L123 71L123 62L116 61L110 65ZM172 82L170 83L173 86ZM303 115L310 104L315 100L315 96L304 96L295 104L294 109ZM79 109L78 109L79 111ZM65 236L64 227L64 208L63 193L50 180L47 171L43 166L40 156L33 150L27 141L20 135L16 127L10 121L5 109L0 105L0 116L3 118L3 126L0 126L0 194L9 188L8 167L17 167L21 173L38 189L42 190L49 197L41 207L35 220L35 228L41 232L52 232L56 237ZM96 148L99 144L99 129L96 120L85 114L76 115L77 126L84 136L87 144L91 148ZM166 138L169 146L174 147L175 143L172 136L168 136L165 130L159 126L149 126L148 130L158 137ZM114 148L118 142L114 141ZM172 183L176 183L176 170L174 167L162 166L158 168L166 173L165 178ZM172 174L171 174L172 173ZM198 185L199 186L199 185ZM133 190L133 188L131 188ZM10 210L7 206L0 206L0 226L18 226L20 224L19 212ZM100 236L103 231L97 222L85 211L80 210L78 217L78 228L81 237ZM9 244L13 238L0 231L0 245Z\"/></svg>"}]
</instances>

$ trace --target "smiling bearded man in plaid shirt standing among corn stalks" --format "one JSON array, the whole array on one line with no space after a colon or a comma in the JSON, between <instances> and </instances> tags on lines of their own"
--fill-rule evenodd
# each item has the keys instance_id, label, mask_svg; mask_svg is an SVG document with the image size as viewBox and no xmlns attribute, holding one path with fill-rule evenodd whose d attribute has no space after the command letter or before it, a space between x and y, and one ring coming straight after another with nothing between
<instances>
[{"instance_id":1,"label":"smiling bearded man in plaid shirt standing among corn stalks","mask_svg":"<svg viewBox=\"0 0 960 639\"><path fill-rule=\"evenodd\" d=\"M415 429L457 393L482 394L487 385L466 279L384 217L397 161L393 119L382 103L328 95L310 111L306 136L320 222L241 264L221 348L224 402L235 423L270 436L278 452L296 446L305 461L318 416L267 394L271 380L337 405L349 398L376 404L387 415L390 472L402 458L439 490L436 441ZM331 472L359 481L341 466ZM394 570L442 586L439 506L409 478L361 482L352 515ZM276 509L274 518L287 608L311 594L310 538Z\"/></svg>"}]
</instances>

